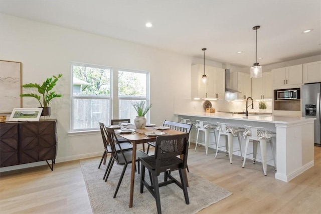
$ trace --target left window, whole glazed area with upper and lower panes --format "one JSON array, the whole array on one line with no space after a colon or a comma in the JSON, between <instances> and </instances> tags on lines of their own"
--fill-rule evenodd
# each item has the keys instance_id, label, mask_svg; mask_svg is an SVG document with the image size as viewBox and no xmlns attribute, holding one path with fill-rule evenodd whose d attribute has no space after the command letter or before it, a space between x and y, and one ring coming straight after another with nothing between
<instances>
[{"instance_id":1,"label":"left window, whole glazed area with upper and lower panes","mask_svg":"<svg viewBox=\"0 0 321 214\"><path fill-rule=\"evenodd\" d=\"M71 131L97 130L109 124L111 67L72 63Z\"/></svg>"}]
</instances>

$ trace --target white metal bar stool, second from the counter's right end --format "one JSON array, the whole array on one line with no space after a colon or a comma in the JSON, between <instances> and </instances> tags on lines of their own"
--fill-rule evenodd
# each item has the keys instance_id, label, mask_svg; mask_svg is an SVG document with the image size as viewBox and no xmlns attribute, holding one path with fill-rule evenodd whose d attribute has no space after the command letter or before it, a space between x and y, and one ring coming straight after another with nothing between
<instances>
[{"instance_id":1,"label":"white metal bar stool, second from the counter's right end","mask_svg":"<svg viewBox=\"0 0 321 214\"><path fill-rule=\"evenodd\" d=\"M232 158L233 158L233 153L240 151L241 152L241 160L243 160L242 156L242 149L241 149L241 141L240 141L240 132L244 132L243 127L237 127L237 126L232 126L230 123L217 123L217 128L216 130L219 131L219 137L218 137L218 142L217 142L217 149L216 149L216 154L215 158L217 156L217 152L220 151L225 151L229 154L230 157L230 163L232 164ZM219 146L220 144L220 137L221 135L225 135L225 146ZM237 137L239 141L239 146L240 149L234 150L233 151L233 137ZM222 149L222 147L225 147L225 149Z\"/></svg>"}]
</instances>

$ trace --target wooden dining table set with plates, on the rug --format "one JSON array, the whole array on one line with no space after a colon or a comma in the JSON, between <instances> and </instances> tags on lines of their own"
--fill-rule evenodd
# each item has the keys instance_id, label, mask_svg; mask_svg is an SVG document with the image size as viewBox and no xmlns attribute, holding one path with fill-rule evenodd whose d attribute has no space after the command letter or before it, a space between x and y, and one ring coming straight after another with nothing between
<instances>
[{"instance_id":1,"label":"wooden dining table set with plates, on the rug","mask_svg":"<svg viewBox=\"0 0 321 214\"><path fill-rule=\"evenodd\" d=\"M157 126L145 127L144 129L136 129L135 125L127 125L127 126L123 126L123 128L133 129L134 131L130 133L120 133L115 131L115 134L117 136L120 136L130 141L133 145L133 148L132 148L133 151L136 151L138 144L144 144L144 143L156 141L156 136L146 135L145 133L147 132L158 133L159 131L162 131L163 132L162 135L185 134L185 132L174 130L174 129L165 129L165 130L155 129L157 128ZM136 152L132 152L132 160L131 160L132 163L134 163L135 160L136 160ZM187 178L186 170L184 170L184 173L186 175L185 177ZM133 203L134 181L135 181L135 167L131 167L129 208L132 207L132 203ZM187 180L187 185L188 185L188 180Z\"/></svg>"}]
</instances>

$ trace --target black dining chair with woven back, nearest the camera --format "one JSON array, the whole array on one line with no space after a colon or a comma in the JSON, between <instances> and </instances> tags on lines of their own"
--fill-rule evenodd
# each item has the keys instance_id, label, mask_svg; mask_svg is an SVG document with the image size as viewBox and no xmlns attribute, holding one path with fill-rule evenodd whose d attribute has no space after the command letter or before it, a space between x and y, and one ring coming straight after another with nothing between
<instances>
[{"instance_id":1,"label":"black dining chair with woven back, nearest the camera","mask_svg":"<svg viewBox=\"0 0 321 214\"><path fill-rule=\"evenodd\" d=\"M187 167L188 139L188 133L157 136L154 155L139 158L141 161L140 193L143 193L144 186L148 189L151 195L155 198L158 214L162 213L161 198L159 195L159 187L161 186L176 183L181 189L183 189L186 204L190 203L187 192L186 177L183 172ZM180 155L183 155L182 159L179 157ZM145 180L146 168L149 175L151 175L150 185ZM179 170L181 182L172 176L173 171L176 170ZM164 182L158 183L157 176L162 172L165 172ZM175 204L172 205L175 206Z\"/></svg>"}]
</instances>

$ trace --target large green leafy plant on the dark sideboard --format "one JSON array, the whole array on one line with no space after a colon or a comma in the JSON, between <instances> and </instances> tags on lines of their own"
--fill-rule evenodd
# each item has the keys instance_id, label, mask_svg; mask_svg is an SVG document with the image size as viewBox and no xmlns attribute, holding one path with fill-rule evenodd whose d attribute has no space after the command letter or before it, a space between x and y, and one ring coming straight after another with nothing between
<instances>
[{"instance_id":1,"label":"large green leafy plant on the dark sideboard","mask_svg":"<svg viewBox=\"0 0 321 214\"><path fill-rule=\"evenodd\" d=\"M49 102L54 99L55 97L62 97L61 94L56 94L55 91L49 92L51 91L54 86L56 85L56 82L58 81L58 79L62 76L62 74L59 74L58 77L53 76L51 78L47 78L47 80L42 84L39 85L37 83L29 83L29 84L25 84L22 85L22 87L24 88L36 88L38 89L38 94L21 94L21 97L34 97L38 100L38 102L40 103L41 107L49 107ZM40 101L40 99L42 99L42 102Z\"/></svg>"}]
</instances>

